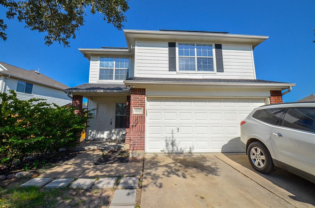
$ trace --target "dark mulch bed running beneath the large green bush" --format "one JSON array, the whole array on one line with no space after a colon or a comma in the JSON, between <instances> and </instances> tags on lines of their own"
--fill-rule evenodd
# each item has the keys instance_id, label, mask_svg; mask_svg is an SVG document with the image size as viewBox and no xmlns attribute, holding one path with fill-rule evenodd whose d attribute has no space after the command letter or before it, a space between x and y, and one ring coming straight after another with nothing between
<instances>
[{"instance_id":1,"label":"dark mulch bed running beneath the large green bush","mask_svg":"<svg viewBox=\"0 0 315 208\"><path fill-rule=\"evenodd\" d=\"M47 153L40 157L39 160L36 161L36 158L26 159L23 167L16 163L14 164L10 170L7 170L5 166L0 165L0 175L9 175L12 173L17 173L20 171L32 171L34 173L41 173L41 169L48 169L55 167L65 161L72 159L75 156L83 153L84 151L60 151L54 153Z\"/></svg>"}]
</instances>

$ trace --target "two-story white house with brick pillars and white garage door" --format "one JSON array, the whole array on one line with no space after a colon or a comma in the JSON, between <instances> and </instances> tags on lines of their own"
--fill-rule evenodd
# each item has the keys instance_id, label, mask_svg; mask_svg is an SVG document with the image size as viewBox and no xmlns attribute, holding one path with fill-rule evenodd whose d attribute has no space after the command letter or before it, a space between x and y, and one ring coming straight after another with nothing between
<instances>
[{"instance_id":1,"label":"two-story white house with brick pillars and white garage door","mask_svg":"<svg viewBox=\"0 0 315 208\"><path fill-rule=\"evenodd\" d=\"M84 96L95 109L87 140L122 139L126 130L131 151L241 152L240 121L255 107L282 102L295 86L256 79L253 50L267 36L178 30L124 35L126 48L79 49L90 61L89 83L65 92L74 106Z\"/></svg>"}]
</instances>

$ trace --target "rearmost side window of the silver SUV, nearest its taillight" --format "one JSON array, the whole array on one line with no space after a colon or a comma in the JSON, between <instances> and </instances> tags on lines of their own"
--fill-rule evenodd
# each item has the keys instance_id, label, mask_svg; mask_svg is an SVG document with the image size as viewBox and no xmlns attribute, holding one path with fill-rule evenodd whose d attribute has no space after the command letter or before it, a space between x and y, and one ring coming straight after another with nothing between
<instances>
[{"instance_id":1,"label":"rearmost side window of the silver SUV, nearest its taillight","mask_svg":"<svg viewBox=\"0 0 315 208\"><path fill-rule=\"evenodd\" d=\"M275 125L285 110L286 108L262 109L262 110L256 111L253 114L253 118Z\"/></svg>"}]
</instances>

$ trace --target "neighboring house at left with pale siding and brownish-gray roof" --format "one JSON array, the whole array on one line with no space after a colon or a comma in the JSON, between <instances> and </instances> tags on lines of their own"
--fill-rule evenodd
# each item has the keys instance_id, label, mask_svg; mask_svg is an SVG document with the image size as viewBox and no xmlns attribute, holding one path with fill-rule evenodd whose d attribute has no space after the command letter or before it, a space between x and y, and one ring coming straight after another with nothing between
<instances>
[{"instance_id":1,"label":"neighboring house at left with pale siding and brownish-gray roof","mask_svg":"<svg viewBox=\"0 0 315 208\"><path fill-rule=\"evenodd\" d=\"M0 62L0 92L16 91L17 98L43 98L48 103L63 106L71 102L63 90L69 86L35 70L26 70Z\"/></svg>"}]
</instances>

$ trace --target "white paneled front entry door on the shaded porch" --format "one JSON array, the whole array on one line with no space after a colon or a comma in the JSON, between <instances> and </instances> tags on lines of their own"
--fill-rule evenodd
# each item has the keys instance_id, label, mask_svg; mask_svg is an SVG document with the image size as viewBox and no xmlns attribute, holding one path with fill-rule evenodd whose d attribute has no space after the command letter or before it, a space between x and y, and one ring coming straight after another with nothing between
<instances>
[{"instance_id":1,"label":"white paneled front entry door on the shaded porch","mask_svg":"<svg viewBox=\"0 0 315 208\"><path fill-rule=\"evenodd\" d=\"M95 139L110 139L114 128L114 103L98 103Z\"/></svg>"}]
</instances>

